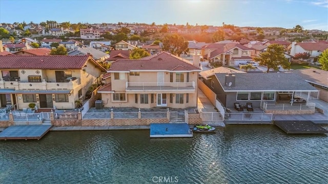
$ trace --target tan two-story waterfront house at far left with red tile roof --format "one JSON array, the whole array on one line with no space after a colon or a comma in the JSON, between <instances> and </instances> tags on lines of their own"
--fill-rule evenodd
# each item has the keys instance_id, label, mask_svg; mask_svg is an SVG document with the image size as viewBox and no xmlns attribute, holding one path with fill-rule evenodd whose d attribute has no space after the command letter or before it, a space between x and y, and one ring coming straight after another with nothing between
<instances>
[{"instance_id":1,"label":"tan two-story waterfront house at far left with red tile roof","mask_svg":"<svg viewBox=\"0 0 328 184\"><path fill-rule=\"evenodd\" d=\"M74 109L106 71L89 55L0 56L0 105L16 109Z\"/></svg>"}]
</instances>

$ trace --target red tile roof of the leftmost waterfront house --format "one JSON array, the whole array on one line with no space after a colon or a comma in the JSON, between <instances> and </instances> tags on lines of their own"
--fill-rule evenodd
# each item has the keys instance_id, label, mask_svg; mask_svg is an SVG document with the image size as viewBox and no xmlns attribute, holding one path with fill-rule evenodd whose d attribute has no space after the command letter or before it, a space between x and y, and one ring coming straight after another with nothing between
<instances>
[{"instance_id":1,"label":"red tile roof of the leftmost waterfront house","mask_svg":"<svg viewBox=\"0 0 328 184\"><path fill-rule=\"evenodd\" d=\"M89 55L6 55L0 56L1 69L81 69ZM93 60L93 59L92 59ZM94 63L96 63L93 60ZM98 65L98 64L97 64Z\"/></svg>"}]
</instances>

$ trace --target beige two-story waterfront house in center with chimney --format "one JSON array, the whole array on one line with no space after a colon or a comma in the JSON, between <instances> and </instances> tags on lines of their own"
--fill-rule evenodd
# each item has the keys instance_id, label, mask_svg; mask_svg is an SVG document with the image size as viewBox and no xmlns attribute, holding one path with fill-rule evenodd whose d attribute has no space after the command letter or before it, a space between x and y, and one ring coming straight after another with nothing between
<instances>
[{"instance_id":1,"label":"beige two-story waterfront house in center with chimney","mask_svg":"<svg viewBox=\"0 0 328 184\"><path fill-rule=\"evenodd\" d=\"M98 90L105 107L197 106L200 55L193 65L168 52L112 63L106 85Z\"/></svg>"}]
</instances>

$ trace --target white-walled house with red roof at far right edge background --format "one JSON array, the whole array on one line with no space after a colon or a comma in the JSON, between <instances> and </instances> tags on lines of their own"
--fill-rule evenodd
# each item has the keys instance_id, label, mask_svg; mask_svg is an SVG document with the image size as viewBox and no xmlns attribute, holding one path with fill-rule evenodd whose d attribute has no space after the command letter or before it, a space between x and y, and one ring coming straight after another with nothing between
<instances>
[{"instance_id":1,"label":"white-walled house with red roof at far right edge background","mask_svg":"<svg viewBox=\"0 0 328 184\"><path fill-rule=\"evenodd\" d=\"M292 43L291 55L295 56L297 53L310 53L310 62L317 62L319 55L328 49L328 44L324 43Z\"/></svg>"}]
</instances>

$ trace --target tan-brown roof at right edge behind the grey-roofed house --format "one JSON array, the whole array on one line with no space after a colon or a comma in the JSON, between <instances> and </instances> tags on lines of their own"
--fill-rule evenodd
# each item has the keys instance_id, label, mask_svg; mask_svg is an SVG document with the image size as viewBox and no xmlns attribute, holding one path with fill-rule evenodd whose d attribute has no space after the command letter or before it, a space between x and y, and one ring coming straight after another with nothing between
<instances>
[{"instance_id":1,"label":"tan-brown roof at right edge behind the grey-roofed house","mask_svg":"<svg viewBox=\"0 0 328 184\"><path fill-rule=\"evenodd\" d=\"M328 88L328 71L316 68L293 70L292 73L299 74L303 79L310 83L315 83Z\"/></svg>"}]
</instances>

